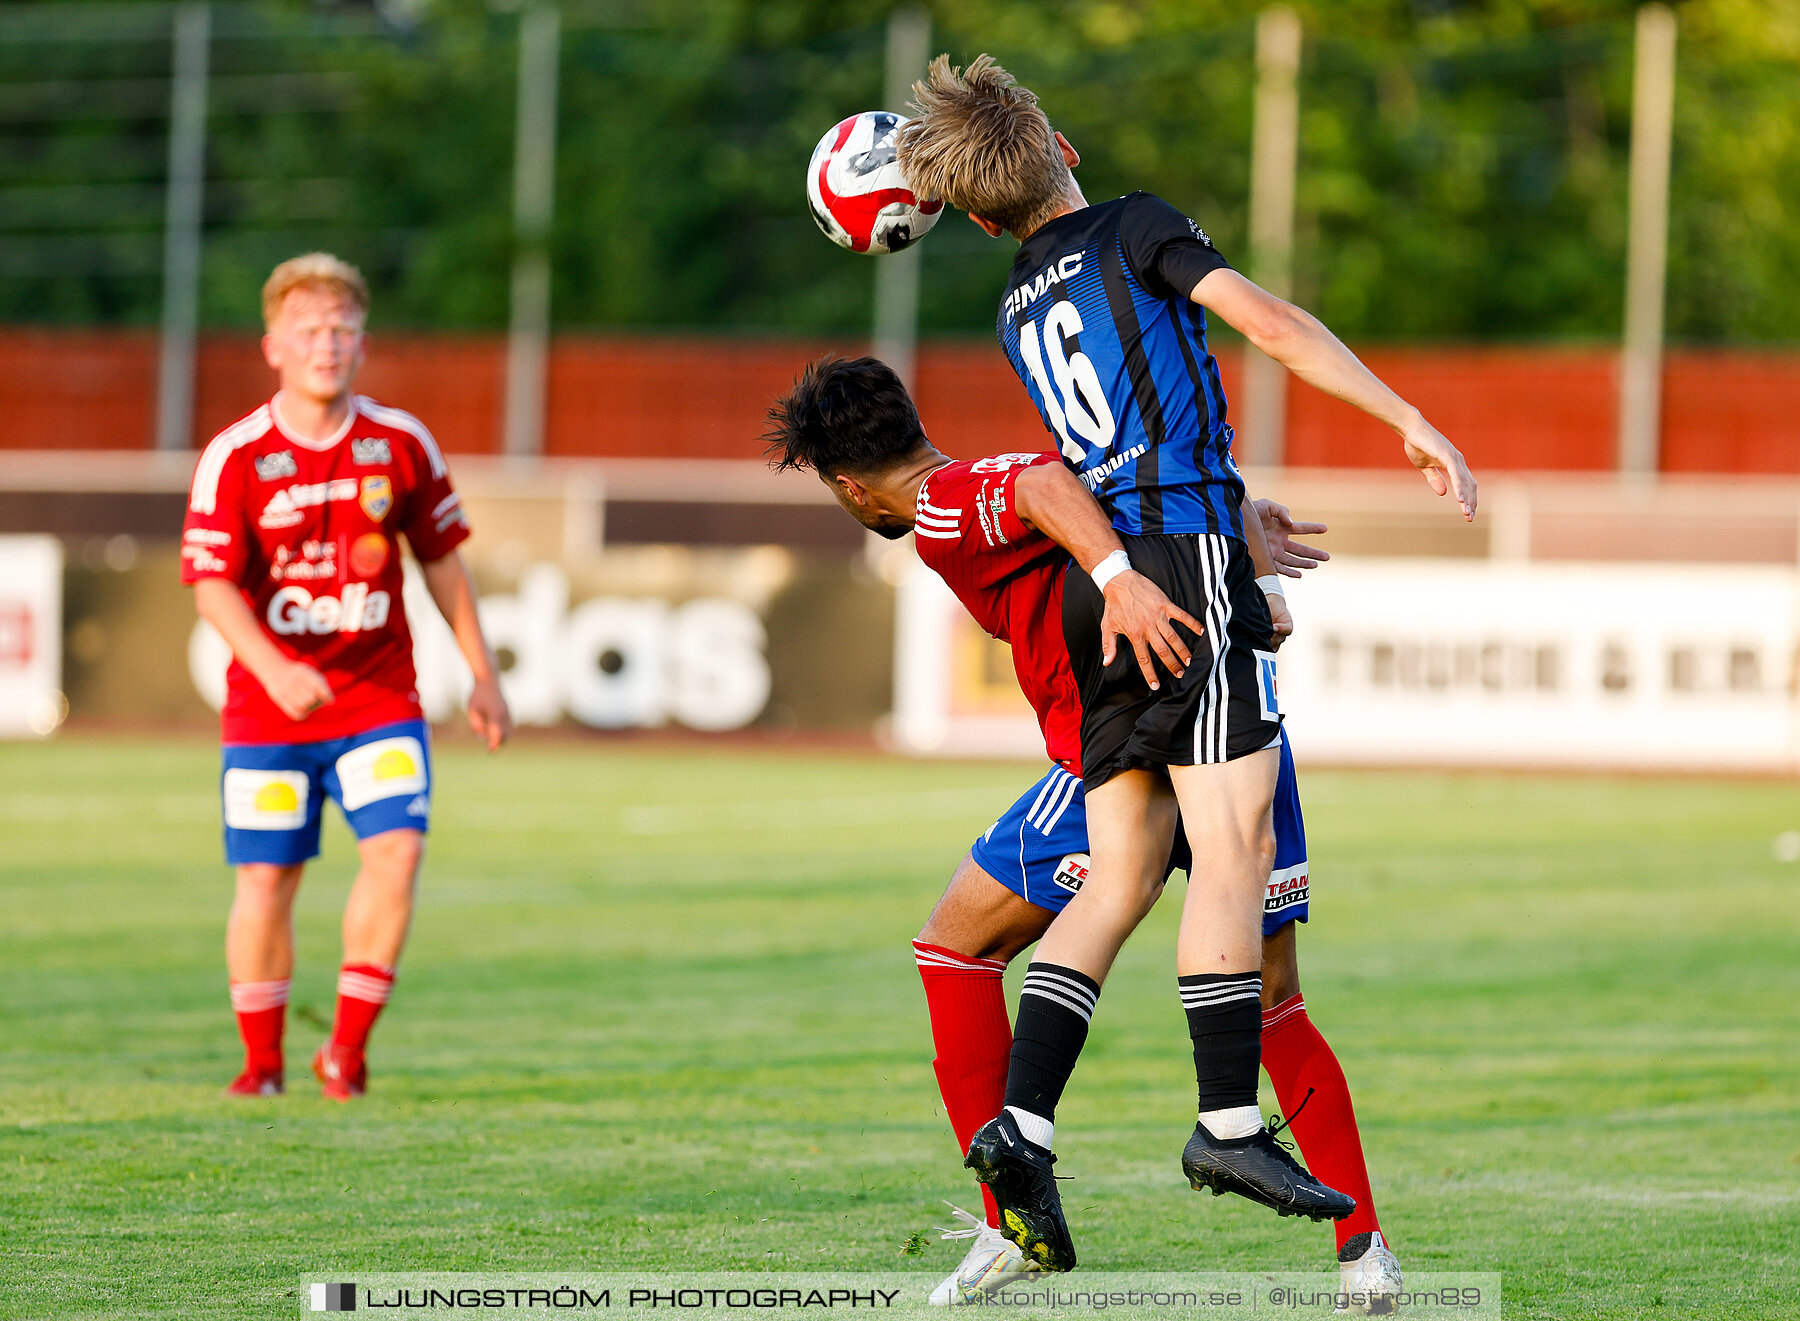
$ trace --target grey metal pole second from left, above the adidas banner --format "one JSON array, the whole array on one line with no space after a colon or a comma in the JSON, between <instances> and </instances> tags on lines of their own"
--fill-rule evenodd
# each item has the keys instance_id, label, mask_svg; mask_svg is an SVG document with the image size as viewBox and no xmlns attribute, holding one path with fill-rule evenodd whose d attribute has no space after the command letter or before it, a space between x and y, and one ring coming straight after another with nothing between
<instances>
[{"instance_id":1,"label":"grey metal pole second from left, above the adidas banner","mask_svg":"<svg viewBox=\"0 0 1800 1321\"><path fill-rule=\"evenodd\" d=\"M513 310L506 337L504 450L544 454L551 342L551 216L556 205L556 65L562 14L529 4L518 14L518 112L513 142Z\"/></svg>"}]
</instances>

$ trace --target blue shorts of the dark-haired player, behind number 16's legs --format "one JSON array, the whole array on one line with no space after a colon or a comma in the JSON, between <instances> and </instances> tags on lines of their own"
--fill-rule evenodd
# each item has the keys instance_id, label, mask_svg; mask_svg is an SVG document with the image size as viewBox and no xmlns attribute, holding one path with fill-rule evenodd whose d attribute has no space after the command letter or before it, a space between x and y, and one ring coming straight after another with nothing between
<instances>
[{"instance_id":1,"label":"blue shorts of the dark-haired player, behind number 16's legs","mask_svg":"<svg viewBox=\"0 0 1800 1321\"><path fill-rule=\"evenodd\" d=\"M1080 776L1062 767L1006 808L970 855L983 871L1026 903L1062 912L1087 880L1087 801ZM1175 830L1168 869L1188 869L1188 840ZM1300 817L1294 752L1282 731L1282 770L1274 781L1274 869L1262 900L1262 934L1307 920L1307 824Z\"/></svg>"}]
</instances>

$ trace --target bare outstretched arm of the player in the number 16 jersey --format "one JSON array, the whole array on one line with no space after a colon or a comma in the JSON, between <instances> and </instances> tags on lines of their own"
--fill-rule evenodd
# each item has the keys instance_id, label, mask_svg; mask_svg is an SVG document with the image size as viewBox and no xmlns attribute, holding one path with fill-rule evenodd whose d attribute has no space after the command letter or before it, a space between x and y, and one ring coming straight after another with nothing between
<instances>
[{"instance_id":1,"label":"bare outstretched arm of the player in the number 16 jersey","mask_svg":"<svg viewBox=\"0 0 1800 1321\"><path fill-rule=\"evenodd\" d=\"M1438 495L1454 495L1463 518L1474 518L1476 484L1469 464L1444 434L1382 385L1361 358L1332 335L1325 322L1238 275L1213 270L1201 277L1190 297L1291 373L1379 418L1400 434L1406 459L1418 468Z\"/></svg>"}]
</instances>

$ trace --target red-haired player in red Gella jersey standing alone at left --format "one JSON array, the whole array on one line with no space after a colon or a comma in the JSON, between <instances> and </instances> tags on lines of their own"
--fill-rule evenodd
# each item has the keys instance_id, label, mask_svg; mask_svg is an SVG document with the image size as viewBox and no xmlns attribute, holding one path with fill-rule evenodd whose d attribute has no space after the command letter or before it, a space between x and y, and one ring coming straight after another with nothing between
<instances>
[{"instance_id":1,"label":"red-haired player in red Gella jersey standing alone at left","mask_svg":"<svg viewBox=\"0 0 1800 1321\"><path fill-rule=\"evenodd\" d=\"M313 1071L324 1094L364 1092L364 1046L394 984L430 821L430 738L401 603L400 540L473 675L468 718L511 732L499 668L463 556L463 500L432 434L353 394L369 292L337 257L283 263L263 286L263 356L281 389L212 437L187 500L182 581L230 646L223 711L225 930L245 1044L234 1096L283 1091L293 896L337 801L362 867L344 909L337 1019Z\"/></svg>"}]
</instances>

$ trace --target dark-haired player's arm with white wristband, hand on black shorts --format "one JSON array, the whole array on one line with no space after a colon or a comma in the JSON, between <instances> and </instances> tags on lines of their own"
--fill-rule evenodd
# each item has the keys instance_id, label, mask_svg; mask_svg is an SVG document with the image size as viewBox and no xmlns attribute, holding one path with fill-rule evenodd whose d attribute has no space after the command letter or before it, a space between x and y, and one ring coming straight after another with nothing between
<instances>
[{"instance_id":1,"label":"dark-haired player's arm with white wristband, hand on black shorts","mask_svg":"<svg viewBox=\"0 0 1800 1321\"><path fill-rule=\"evenodd\" d=\"M1100 583L1100 596L1107 603L1100 617L1102 660L1112 664L1118 639L1123 637L1138 653L1138 669L1152 689L1161 687L1152 655L1181 678L1193 659L1193 648L1183 641L1175 621L1195 635L1202 632L1201 621L1130 567L1112 522L1080 479L1060 463L1040 463L1019 473L1013 502L1026 527L1044 533Z\"/></svg>"}]
</instances>

